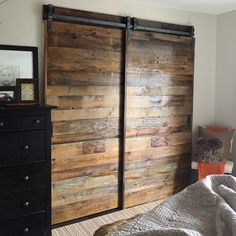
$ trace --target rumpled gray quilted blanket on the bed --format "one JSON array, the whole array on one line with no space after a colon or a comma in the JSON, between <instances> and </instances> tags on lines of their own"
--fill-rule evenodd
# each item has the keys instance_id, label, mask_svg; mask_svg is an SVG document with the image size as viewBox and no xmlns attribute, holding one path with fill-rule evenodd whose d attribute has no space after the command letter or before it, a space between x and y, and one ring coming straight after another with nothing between
<instances>
[{"instance_id":1,"label":"rumpled gray quilted blanket on the bed","mask_svg":"<svg viewBox=\"0 0 236 236\"><path fill-rule=\"evenodd\" d=\"M236 236L236 178L211 175L109 236Z\"/></svg>"}]
</instances>

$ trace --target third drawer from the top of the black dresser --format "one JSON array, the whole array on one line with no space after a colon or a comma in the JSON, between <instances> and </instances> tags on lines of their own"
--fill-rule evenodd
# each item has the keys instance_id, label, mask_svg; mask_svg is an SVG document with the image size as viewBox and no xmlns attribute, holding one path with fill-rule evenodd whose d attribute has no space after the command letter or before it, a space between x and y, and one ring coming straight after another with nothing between
<instances>
[{"instance_id":1,"label":"third drawer from the top of the black dresser","mask_svg":"<svg viewBox=\"0 0 236 236\"><path fill-rule=\"evenodd\" d=\"M2 168L0 169L0 193L46 185L49 172L49 162Z\"/></svg>"}]
</instances>

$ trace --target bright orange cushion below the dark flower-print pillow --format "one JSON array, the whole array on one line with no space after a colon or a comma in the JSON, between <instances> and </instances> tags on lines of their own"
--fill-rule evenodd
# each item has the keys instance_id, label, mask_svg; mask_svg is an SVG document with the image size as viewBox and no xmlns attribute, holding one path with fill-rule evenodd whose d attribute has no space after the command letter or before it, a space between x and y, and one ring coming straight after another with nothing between
<instances>
[{"instance_id":1,"label":"bright orange cushion below the dark flower-print pillow","mask_svg":"<svg viewBox=\"0 0 236 236\"><path fill-rule=\"evenodd\" d=\"M224 174L225 173L225 162L218 163L207 163L198 162L198 179L203 179L207 175Z\"/></svg>"}]
</instances>

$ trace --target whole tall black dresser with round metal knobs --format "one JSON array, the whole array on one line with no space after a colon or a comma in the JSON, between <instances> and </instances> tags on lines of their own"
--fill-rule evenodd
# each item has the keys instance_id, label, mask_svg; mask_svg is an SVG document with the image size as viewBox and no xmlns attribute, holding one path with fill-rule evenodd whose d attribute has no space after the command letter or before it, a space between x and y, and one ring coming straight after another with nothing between
<instances>
[{"instance_id":1,"label":"whole tall black dresser with round metal knobs","mask_svg":"<svg viewBox=\"0 0 236 236\"><path fill-rule=\"evenodd\" d=\"M0 236L51 235L51 108L0 108Z\"/></svg>"}]
</instances>

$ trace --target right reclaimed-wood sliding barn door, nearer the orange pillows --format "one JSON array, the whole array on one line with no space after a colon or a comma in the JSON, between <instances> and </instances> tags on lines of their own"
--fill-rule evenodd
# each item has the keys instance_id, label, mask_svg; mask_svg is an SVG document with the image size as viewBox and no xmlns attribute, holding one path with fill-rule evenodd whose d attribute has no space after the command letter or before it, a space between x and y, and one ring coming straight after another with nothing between
<instances>
[{"instance_id":1,"label":"right reclaimed-wood sliding barn door, nearer the orange pillows","mask_svg":"<svg viewBox=\"0 0 236 236\"><path fill-rule=\"evenodd\" d=\"M125 207L186 186L191 160L193 38L131 31L128 42Z\"/></svg>"}]
</instances>

